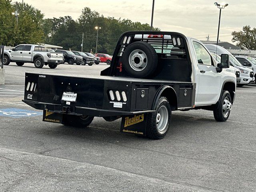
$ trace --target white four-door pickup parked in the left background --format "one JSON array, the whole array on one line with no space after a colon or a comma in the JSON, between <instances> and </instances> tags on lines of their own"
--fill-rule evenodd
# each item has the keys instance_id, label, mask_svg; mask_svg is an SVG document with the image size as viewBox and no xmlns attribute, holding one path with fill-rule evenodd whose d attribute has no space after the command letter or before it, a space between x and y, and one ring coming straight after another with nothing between
<instances>
[{"instance_id":1,"label":"white four-door pickup parked in the left background","mask_svg":"<svg viewBox=\"0 0 256 192\"><path fill-rule=\"evenodd\" d=\"M64 62L62 53L47 52L42 45L21 44L11 50L4 50L4 65L16 62L18 66L24 63L34 63L36 68L48 65L54 69Z\"/></svg>"}]
</instances>

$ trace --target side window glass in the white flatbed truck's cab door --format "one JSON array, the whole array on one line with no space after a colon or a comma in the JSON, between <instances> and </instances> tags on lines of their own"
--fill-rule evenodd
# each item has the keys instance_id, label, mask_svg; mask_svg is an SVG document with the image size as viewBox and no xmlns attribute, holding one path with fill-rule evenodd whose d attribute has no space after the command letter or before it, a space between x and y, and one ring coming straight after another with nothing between
<instances>
[{"instance_id":1,"label":"side window glass in the white flatbed truck's cab door","mask_svg":"<svg viewBox=\"0 0 256 192\"><path fill-rule=\"evenodd\" d=\"M193 41L198 64L212 66L212 59L207 50L200 43Z\"/></svg>"}]
</instances>

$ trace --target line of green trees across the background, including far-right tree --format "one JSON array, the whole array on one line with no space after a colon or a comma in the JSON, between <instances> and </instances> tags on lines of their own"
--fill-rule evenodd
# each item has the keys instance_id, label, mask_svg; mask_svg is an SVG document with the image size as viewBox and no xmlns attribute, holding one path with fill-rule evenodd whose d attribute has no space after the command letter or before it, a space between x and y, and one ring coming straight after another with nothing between
<instances>
[{"instance_id":1,"label":"line of green trees across the background, including far-right tree","mask_svg":"<svg viewBox=\"0 0 256 192\"><path fill-rule=\"evenodd\" d=\"M12 13L18 10L18 22ZM104 17L102 14L85 7L79 18L70 16L44 18L44 14L29 4L12 3L0 0L0 44L53 44L64 49L81 50L84 33L83 51L95 53L98 31L98 52L112 54L119 36L130 30L150 30L149 24L132 22L129 19ZM160 30L153 28L153 30ZM242 31L232 32L232 41L242 49L256 50L256 28L244 26Z\"/></svg>"}]
</instances>

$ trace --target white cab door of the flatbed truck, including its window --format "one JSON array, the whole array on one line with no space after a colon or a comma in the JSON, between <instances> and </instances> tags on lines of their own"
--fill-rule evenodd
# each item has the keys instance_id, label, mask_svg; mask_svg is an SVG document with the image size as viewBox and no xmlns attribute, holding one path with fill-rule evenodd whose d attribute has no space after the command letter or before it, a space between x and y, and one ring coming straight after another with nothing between
<instances>
[{"instance_id":1,"label":"white cab door of the flatbed truck, including its window","mask_svg":"<svg viewBox=\"0 0 256 192\"><path fill-rule=\"evenodd\" d=\"M221 74L216 71L216 66L206 48L200 42L193 41L192 43L199 69L196 102L216 102L219 99Z\"/></svg>"}]
</instances>

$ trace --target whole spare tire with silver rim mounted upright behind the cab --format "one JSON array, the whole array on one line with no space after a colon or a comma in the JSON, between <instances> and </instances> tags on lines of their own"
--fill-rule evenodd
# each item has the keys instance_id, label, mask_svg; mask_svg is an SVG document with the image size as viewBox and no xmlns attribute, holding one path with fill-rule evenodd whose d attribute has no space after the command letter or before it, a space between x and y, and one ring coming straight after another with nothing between
<instances>
[{"instance_id":1,"label":"whole spare tire with silver rim mounted upright behind the cab","mask_svg":"<svg viewBox=\"0 0 256 192\"><path fill-rule=\"evenodd\" d=\"M136 78L150 77L156 70L157 64L156 50L146 42L134 42L124 52L123 66L130 76Z\"/></svg>"}]
</instances>

